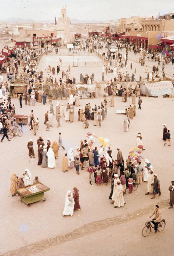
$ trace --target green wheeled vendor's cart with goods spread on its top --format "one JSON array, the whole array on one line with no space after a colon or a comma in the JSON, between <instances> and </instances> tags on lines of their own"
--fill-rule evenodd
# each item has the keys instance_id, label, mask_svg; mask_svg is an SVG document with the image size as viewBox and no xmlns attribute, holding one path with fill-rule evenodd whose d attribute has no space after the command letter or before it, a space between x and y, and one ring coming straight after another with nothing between
<instances>
[{"instance_id":1,"label":"green wheeled vendor's cart with goods spread on its top","mask_svg":"<svg viewBox=\"0 0 174 256\"><path fill-rule=\"evenodd\" d=\"M26 203L29 207L32 203L42 201L45 202L44 192L50 190L49 187L42 183L36 183L27 187L16 189L16 193L21 196L21 202Z\"/></svg>"}]
</instances>

